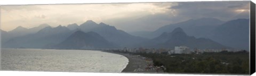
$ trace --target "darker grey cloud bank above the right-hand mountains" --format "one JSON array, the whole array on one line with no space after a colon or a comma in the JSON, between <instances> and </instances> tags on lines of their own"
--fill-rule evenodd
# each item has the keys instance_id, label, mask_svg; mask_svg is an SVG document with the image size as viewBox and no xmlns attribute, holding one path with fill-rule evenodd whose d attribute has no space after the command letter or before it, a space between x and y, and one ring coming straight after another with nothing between
<instances>
[{"instance_id":1,"label":"darker grey cloud bank above the right-hand mountains","mask_svg":"<svg viewBox=\"0 0 256 76\"><path fill-rule=\"evenodd\" d=\"M154 31L159 27L171 23L178 23L189 19L217 18L222 21L229 21L238 18L249 18L249 2L172 2L154 3L163 7L165 13L149 14L140 18L126 18L125 20L107 21L127 32L133 31ZM134 28L136 27L136 28Z\"/></svg>"}]
</instances>

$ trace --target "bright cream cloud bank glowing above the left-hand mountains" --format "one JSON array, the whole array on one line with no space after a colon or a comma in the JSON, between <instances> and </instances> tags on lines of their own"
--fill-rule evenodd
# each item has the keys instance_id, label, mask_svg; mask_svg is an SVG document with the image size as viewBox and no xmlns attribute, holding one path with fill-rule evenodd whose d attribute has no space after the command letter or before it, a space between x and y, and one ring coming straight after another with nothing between
<instances>
[{"instance_id":1,"label":"bright cream cloud bank glowing above the left-hand mountains","mask_svg":"<svg viewBox=\"0 0 256 76\"><path fill-rule=\"evenodd\" d=\"M70 23L82 24L87 20L99 23L165 13L167 10L154 3L6 5L1 7L1 29L10 31L18 26L31 28L43 23L53 27L59 24L66 26Z\"/></svg>"}]
</instances>

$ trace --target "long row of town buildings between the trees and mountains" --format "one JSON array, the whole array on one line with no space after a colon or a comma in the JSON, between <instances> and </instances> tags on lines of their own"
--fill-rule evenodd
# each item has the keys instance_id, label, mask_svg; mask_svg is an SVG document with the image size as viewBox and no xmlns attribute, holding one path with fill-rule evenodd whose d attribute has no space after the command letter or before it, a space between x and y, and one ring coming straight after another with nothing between
<instances>
[{"instance_id":1,"label":"long row of town buildings between the trees and mountains","mask_svg":"<svg viewBox=\"0 0 256 76\"><path fill-rule=\"evenodd\" d=\"M201 53L218 53L222 51L227 52L239 52L241 49L198 49L198 48L189 48L186 46L175 46L174 49L163 49L163 48L123 48L119 49L122 52L130 53L154 53L154 54L201 54Z\"/></svg>"}]
</instances>

